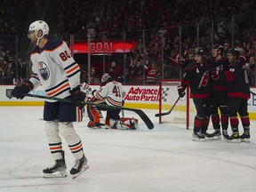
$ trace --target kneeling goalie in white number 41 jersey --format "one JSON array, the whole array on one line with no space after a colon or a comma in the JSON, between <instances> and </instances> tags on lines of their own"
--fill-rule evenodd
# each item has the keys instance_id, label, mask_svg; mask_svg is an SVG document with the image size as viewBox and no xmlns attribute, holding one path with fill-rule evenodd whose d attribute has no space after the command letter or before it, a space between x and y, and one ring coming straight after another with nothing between
<instances>
[{"instance_id":1,"label":"kneeling goalie in white number 41 jersey","mask_svg":"<svg viewBox=\"0 0 256 192\"><path fill-rule=\"evenodd\" d=\"M84 84L84 91L87 93L87 99L95 104L107 104L108 106L116 106L116 108L96 108L95 106L87 106L87 113L90 119L87 124L90 128L101 127L103 116L100 110L106 110L107 116L105 119L105 128L106 129L138 129L138 119L135 118L120 118L119 114L121 108L124 105L124 94L122 84L116 81L113 81L111 76L105 73L101 77L100 90L96 91L92 89L88 84ZM91 91L91 93L89 93Z\"/></svg>"}]
</instances>

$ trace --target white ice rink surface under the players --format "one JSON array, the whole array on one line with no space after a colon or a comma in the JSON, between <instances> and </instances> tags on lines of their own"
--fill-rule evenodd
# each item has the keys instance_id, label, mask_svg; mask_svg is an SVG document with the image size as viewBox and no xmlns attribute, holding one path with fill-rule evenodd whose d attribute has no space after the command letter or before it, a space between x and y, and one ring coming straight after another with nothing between
<instances>
[{"instance_id":1,"label":"white ice rink surface under the players","mask_svg":"<svg viewBox=\"0 0 256 192\"><path fill-rule=\"evenodd\" d=\"M256 191L255 122L251 143L195 142L185 124L158 124L157 110L144 111L155 124L151 131L140 119L140 130L89 129L86 117L76 123L89 169L76 179L44 179L52 157L43 107L0 107L0 192ZM63 146L69 172L74 157Z\"/></svg>"}]
</instances>

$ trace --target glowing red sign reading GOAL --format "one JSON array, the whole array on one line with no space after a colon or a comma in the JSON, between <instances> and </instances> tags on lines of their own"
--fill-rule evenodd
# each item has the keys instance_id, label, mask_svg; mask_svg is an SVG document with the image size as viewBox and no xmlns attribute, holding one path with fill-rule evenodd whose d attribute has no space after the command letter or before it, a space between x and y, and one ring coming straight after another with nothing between
<instances>
[{"instance_id":1,"label":"glowing red sign reading GOAL","mask_svg":"<svg viewBox=\"0 0 256 192\"><path fill-rule=\"evenodd\" d=\"M136 47L136 41L92 41L91 53L110 53L110 52L131 52ZM88 53L89 47L87 41L76 41L74 43L74 53Z\"/></svg>"}]
</instances>

